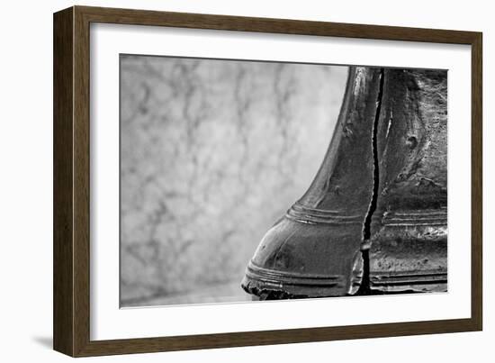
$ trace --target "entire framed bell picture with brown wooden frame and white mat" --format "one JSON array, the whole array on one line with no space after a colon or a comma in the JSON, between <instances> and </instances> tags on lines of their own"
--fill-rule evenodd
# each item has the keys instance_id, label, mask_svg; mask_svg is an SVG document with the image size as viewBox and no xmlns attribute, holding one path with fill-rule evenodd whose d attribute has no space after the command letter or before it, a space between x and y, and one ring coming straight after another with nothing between
<instances>
[{"instance_id":1,"label":"entire framed bell picture with brown wooden frame and white mat","mask_svg":"<svg viewBox=\"0 0 495 363\"><path fill-rule=\"evenodd\" d=\"M482 330L482 33L54 14L54 349Z\"/></svg>"}]
</instances>

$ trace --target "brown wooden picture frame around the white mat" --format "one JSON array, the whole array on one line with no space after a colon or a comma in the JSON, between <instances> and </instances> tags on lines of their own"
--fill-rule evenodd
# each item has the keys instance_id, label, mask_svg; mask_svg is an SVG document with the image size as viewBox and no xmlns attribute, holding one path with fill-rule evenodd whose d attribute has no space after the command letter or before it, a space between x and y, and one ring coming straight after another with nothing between
<instances>
[{"instance_id":1,"label":"brown wooden picture frame around the white mat","mask_svg":"<svg viewBox=\"0 0 495 363\"><path fill-rule=\"evenodd\" d=\"M89 27L118 23L472 47L471 318L90 340ZM54 14L54 349L72 357L482 330L482 33L73 6Z\"/></svg>"}]
</instances>

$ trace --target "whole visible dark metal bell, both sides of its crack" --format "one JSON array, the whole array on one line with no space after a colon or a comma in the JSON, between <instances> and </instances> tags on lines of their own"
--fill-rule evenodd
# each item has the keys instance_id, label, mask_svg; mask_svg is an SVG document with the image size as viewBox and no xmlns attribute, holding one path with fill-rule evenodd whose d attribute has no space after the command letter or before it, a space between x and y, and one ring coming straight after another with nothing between
<instances>
[{"instance_id":1,"label":"whole visible dark metal bell, both sides of its crack","mask_svg":"<svg viewBox=\"0 0 495 363\"><path fill-rule=\"evenodd\" d=\"M349 68L320 170L241 286L262 300L446 289L446 71Z\"/></svg>"}]
</instances>

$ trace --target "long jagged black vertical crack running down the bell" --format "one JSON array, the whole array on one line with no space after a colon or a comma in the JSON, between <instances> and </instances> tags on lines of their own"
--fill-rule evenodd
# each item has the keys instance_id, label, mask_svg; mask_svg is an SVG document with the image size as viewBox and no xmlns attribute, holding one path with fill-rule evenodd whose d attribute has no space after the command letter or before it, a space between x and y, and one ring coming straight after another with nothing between
<instances>
[{"instance_id":1,"label":"long jagged black vertical crack running down the bell","mask_svg":"<svg viewBox=\"0 0 495 363\"><path fill-rule=\"evenodd\" d=\"M368 212L365 216L365 222L363 223L363 242L362 242L362 258L363 258L363 278L361 286L359 287L356 295L366 295L371 292L370 290L370 238L371 238L371 224L373 214L376 211L378 204L378 189L380 185L380 166L378 161L378 122L380 120L380 113L382 112L382 98L383 98L383 83L384 83L384 69L380 68L380 86L378 88L378 96L376 97L376 111L374 113L374 125L372 132L372 151L373 151L373 194L368 207Z\"/></svg>"}]
</instances>

